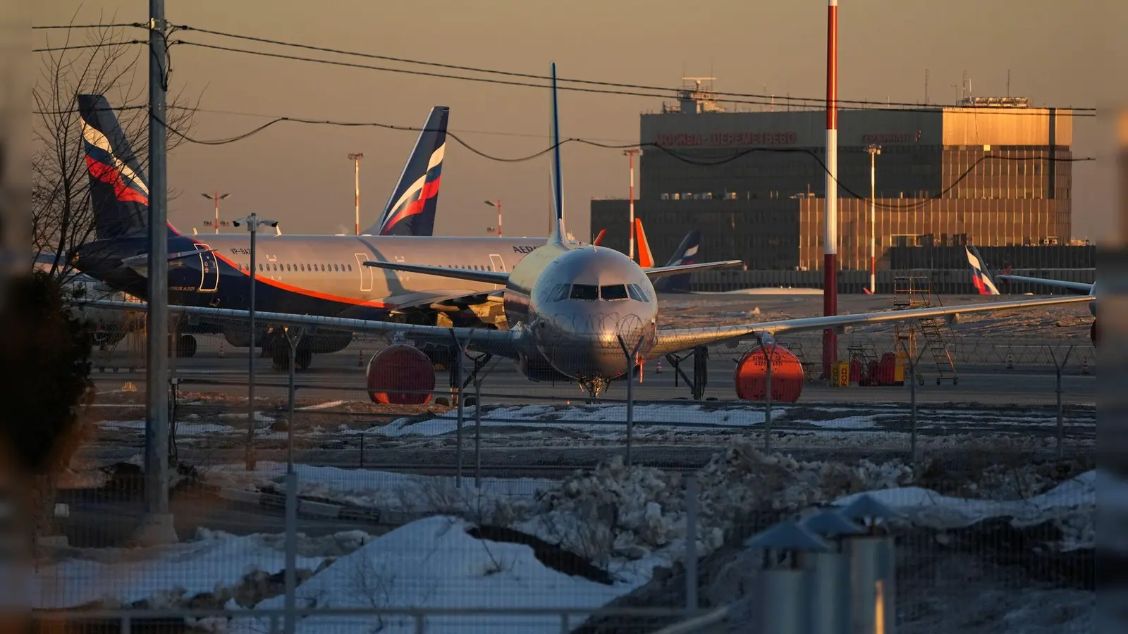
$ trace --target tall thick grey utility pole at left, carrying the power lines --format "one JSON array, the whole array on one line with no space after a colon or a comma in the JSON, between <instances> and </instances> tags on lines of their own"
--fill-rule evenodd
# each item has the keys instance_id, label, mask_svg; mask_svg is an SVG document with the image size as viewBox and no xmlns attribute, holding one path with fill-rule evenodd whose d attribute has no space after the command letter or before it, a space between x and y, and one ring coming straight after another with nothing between
<instances>
[{"instance_id":1,"label":"tall thick grey utility pole at left, carrying the power lines","mask_svg":"<svg viewBox=\"0 0 1128 634\"><path fill-rule=\"evenodd\" d=\"M168 170L165 0L149 0L149 310L146 315L146 521L149 544L176 541L168 512Z\"/></svg>"}]
</instances>

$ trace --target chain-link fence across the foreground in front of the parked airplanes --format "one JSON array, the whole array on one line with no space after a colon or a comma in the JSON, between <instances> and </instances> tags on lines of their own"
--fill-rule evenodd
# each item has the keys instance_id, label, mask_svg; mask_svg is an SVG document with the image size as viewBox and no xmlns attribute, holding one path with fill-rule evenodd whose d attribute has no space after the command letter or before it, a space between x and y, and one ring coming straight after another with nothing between
<instances>
[{"instance_id":1,"label":"chain-link fence across the foreground in front of the parked airplanes","mask_svg":"<svg viewBox=\"0 0 1128 634\"><path fill-rule=\"evenodd\" d=\"M146 386L107 366L90 441L60 493L71 549L36 572L36 607L129 608L131 627L149 618L139 610L180 610L183 625L191 608L213 610L187 622L196 627L284 631L284 616L262 610L287 607L290 570L294 610L367 610L298 628L432 632L504 617L520 631L654 632L725 606L728 631L783 602L763 595L781 562L749 539L875 492L897 513L881 581L898 632L1037 618L1082 631L1092 346L891 334L841 335L829 375L821 334L781 336L641 359L633 379L597 390L474 350L423 350L421 366L377 337L291 372L273 351L252 358L197 334L170 387L180 543L115 549L144 517ZM608 350L632 366L623 343ZM821 535L841 548L838 537ZM783 567L817 575L818 560ZM532 611L472 614L486 608Z\"/></svg>"}]
</instances>

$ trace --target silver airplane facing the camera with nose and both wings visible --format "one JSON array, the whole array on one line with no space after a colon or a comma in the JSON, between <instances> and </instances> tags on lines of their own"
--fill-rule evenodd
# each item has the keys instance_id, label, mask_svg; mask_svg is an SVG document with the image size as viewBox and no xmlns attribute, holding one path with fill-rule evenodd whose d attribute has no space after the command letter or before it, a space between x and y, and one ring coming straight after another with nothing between
<instances>
[{"instance_id":1,"label":"silver airplane facing the camera with nose and both wings visible","mask_svg":"<svg viewBox=\"0 0 1128 634\"><path fill-rule=\"evenodd\" d=\"M777 322L732 324L696 328L656 327L658 299L652 279L740 265L740 261L682 264L644 270L615 249L583 245L567 239L558 140L559 117L556 94L556 64L552 74L552 226L547 240L537 246L509 271L415 264L406 261L368 259L369 268L385 268L418 276L434 276L457 282L496 284L505 307L506 329L439 327L394 324L346 317L323 317L285 312L257 312L257 318L275 326L300 331L309 328L349 328L393 337L394 345L443 344L462 351L502 356L517 361L519 370L532 380L575 381L592 398L598 398L613 380L628 379L647 358L671 354L700 345L737 344L756 340L774 343L779 333L841 329L846 326L901 322L925 317L950 317L964 312L1024 309L1090 301L1070 297L1001 301L989 305L929 307L860 315L805 317ZM109 302L98 302L108 306ZM212 318L243 320L246 310L201 306L170 306L171 311L203 314ZM299 335L301 336L301 335ZM373 356L376 361L379 352ZM376 363L370 362L369 372ZM479 367L475 363L475 367ZM432 369L433 372L433 369ZM397 390L431 389L430 377L397 372ZM372 376L369 376L372 380ZM409 384L409 386L408 386ZM371 388L370 382L370 388Z\"/></svg>"}]
</instances>

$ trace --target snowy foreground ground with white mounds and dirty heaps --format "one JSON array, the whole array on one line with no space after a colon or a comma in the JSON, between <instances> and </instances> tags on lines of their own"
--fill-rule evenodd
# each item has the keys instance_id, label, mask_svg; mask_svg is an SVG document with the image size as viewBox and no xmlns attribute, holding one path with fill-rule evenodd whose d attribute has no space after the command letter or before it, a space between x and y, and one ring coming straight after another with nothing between
<instances>
[{"instance_id":1,"label":"snowy foreground ground with white mounds and dirty heaps","mask_svg":"<svg viewBox=\"0 0 1128 634\"><path fill-rule=\"evenodd\" d=\"M734 441L697 474L697 552L714 553L726 536L767 517L817 504L846 504L863 492L917 526L949 530L987 518L1008 518L1014 526L1051 521L1064 535L1051 547L1091 548L1100 478L1075 467L1063 479L1058 469L1049 463L987 467L941 485L935 474L897 460L804 461L766 455L750 442ZM283 470L281 464L261 463L250 474L241 466L213 467L205 477L226 486L274 488ZM482 490L473 487L472 478L456 490L450 477L361 469L299 466L298 475L303 496L434 513L377 538L344 534L329 541L306 539L299 560L301 605L598 607L647 583L654 566L670 566L685 547L682 474L627 468L618 460L555 482L487 478ZM1108 496L1107 487L1102 495ZM1128 495L1112 499L1128 501ZM1128 504L1122 507L1128 509ZM467 532L476 526L514 529L578 554L607 573L609 582L574 570L566 574L556 570L558 564L546 565L538 558L543 552L529 545ZM915 555L935 556L931 551ZM273 591L254 595L258 600L248 599L253 593L246 587L248 579L281 571L282 557L279 536L233 537L202 530L197 539L175 546L80 552L42 566L33 592L37 607L95 601L183 606L203 595L232 609L281 607L276 581ZM946 574L958 576L959 571ZM1006 631L1004 622L997 620L997 631ZM332 622L317 617L305 619L301 627L370 632L379 625L374 617ZM414 627L409 619L389 616L382 625L385 632ZM268 631L249 614L229 626L237 632ZM429 619L428 631L432 627L440 632L557 632L558 620L451 617Z\"/></svg>"}]
</instances>

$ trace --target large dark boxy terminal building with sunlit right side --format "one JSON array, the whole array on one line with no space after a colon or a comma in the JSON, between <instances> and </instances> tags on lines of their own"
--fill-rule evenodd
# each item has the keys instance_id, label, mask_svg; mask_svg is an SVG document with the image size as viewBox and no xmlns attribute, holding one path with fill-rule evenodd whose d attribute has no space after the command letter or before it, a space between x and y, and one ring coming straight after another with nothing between
<instances>
[{"instance_id":1,"label":"large dark boxy terminal building with sunlit right side","mask_svg":"<svg viewBox=\"0 0 1128 634\"><path fill-rule=\"evenodd\" d=\"M952 107L841 109L843 291L860 292L851 281L869 280L871 159L879 274L893 266L895 247L975 244L1032 253L1068 245L1072 115L1030 107L1023 98L982 97ZM749 272L698 274L697 290L779 283L769 278L821 285L825 109L725 112L698 80L677 104L642 115L640 140L635 215L658 259L699 229L700 257L739 258ZM880 153L872 156L871 148ZM627 250L627 200L591 202L592 232L607 229L608 247ZM761 272L777 274L754 274ZM807 279L810 284L799 282Z\"/></svg>"}]
</instances>

